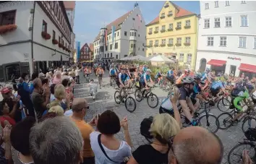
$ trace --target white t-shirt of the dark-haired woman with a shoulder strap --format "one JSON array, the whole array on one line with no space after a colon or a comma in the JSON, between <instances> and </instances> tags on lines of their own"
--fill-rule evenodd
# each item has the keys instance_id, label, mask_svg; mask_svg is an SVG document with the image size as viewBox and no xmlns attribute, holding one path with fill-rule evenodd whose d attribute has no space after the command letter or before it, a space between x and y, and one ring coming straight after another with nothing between
<instances>
[{"instance_id":1,"label":"white t-shirt of the dark-haired woman with a shoulder strap","mask_svg":"<svg viewBox=\"0 0 256 164\"><path fill-rule=\"evenodd\" d=\"M106 154L111 160L114 160L112 162L111 160L108 160L108 158L104 155L104 153L101 150L100 145L98 144L98 135L101 134L98 131L93 131L90 134L90 145L92 147L92 150L95 155L95 164L116 164L121 163L124 161L124 157L130 157L132 156L131 147L127 142L121 141L120 147L118 150L109 150L107 147L105 147L102 144L103 149L105 150Z\"/></svg>"}]
</instances>

